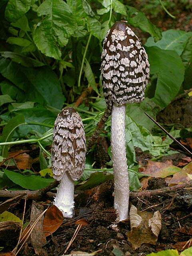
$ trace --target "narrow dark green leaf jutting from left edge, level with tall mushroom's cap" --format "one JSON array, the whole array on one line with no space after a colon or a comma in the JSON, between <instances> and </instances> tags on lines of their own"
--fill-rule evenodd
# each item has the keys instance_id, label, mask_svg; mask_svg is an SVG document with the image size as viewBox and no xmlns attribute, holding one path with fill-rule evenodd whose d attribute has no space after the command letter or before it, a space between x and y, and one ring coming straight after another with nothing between
<instances>
[{"instance_id":1,"label":"narrow dark green leaf jutting from left edge, level with tall mushroom's cap","mask_svg":"<svg viewBox=\"0 0 192 256\"><path fill-rule=\"evenodd\" d=\"M20 38L23 39L23 38ZM44 66L45 64L40 62L39 60L34 60L30 57L27 57L25 55L16 53L16 52L0 52L1 56L4 58L10 58L12 61L22 64L25 67L40 67Z\"/></svg>"}]
</instances>

